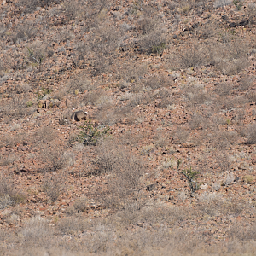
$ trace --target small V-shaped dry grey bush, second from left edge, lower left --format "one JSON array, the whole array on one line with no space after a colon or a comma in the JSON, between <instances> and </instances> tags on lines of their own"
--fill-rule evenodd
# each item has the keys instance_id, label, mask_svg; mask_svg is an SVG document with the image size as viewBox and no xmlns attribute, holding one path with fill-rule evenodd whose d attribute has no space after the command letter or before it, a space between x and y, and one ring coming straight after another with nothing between
<instances>
[{"instance_id":1,"label":"small V-shaped dry grey bush, second from left edge, lower left","mask_svg":"<svg viewBox=\"0 0 256 256\"><path fill-rule=\"evenodd\" d=\"M44 180L42 183L42 188L46 195L48 195L50 201L56 201L61 193L66 189L67 174L65 172L58 173L44 173Z\"/></svg>"}]
</instances>

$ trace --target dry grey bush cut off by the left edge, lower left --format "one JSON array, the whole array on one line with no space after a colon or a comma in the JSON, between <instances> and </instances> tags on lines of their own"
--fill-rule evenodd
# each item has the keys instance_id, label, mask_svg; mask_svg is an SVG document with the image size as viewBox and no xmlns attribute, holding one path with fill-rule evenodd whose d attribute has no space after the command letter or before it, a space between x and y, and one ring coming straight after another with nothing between
<instances>
[{"instance_id":1,"label":"dry grey bush cut off by the left edge, lower left","mask_svg":"<svg viewBox=\"0 0 256 256\"><path fill-rule=\"evenodd\" d=\"M15 189L15 184L12 184L6 177L0 177L0 209L11 207L16 203L24 202L25 195Z\"/></svg>"}]
</instances>

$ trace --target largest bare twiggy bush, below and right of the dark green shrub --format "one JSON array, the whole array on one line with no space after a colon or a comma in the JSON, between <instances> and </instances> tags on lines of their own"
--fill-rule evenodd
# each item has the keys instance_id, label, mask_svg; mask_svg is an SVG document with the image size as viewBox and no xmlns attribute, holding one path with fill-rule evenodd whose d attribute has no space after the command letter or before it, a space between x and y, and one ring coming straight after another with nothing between
<instances>
[{"instance_id":1,"label":"largest bare twiggy bush, below and right of the dark green shrub","mask_svg":"<svg viewBox=\"0 0 256 256\"><path fill-rule=\"evenodd\" d=\"M143 196L142 160L136 159L128 150L108 140L97 148L96 173L108 173L108 207L125 209L130 212L141 209Z\"/></svg>"}]
</instances>

